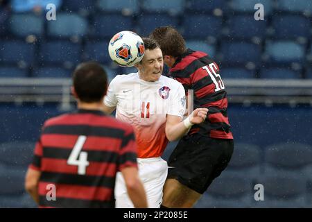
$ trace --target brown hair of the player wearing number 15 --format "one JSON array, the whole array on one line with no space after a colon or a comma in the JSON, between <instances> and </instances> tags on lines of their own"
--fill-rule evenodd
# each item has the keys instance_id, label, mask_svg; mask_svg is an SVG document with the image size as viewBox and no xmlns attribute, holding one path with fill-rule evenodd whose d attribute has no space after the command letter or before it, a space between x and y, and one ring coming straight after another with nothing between
<instances>
[{"instance_id":1,"label":"brown hair of the player wearing number 15","mask_svg":"<svg viewBox=\"0 0 312 222\"><path fill-rule=\"evenodd\" d=\"M149 37L156 40L164 56L181 56L187 50L184 38L171 26L155 28Z\"/></svg>"}]
</instances>

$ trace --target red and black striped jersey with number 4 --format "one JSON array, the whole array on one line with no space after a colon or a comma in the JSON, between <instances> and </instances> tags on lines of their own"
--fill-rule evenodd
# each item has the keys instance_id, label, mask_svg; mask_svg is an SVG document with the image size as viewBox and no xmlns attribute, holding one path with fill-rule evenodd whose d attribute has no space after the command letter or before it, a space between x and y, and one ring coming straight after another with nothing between
<instances>
[{"instance_id":1,"label":"red and black striped jersey with number 4","mask_svg":"<svg viewBox=\"0 0 312 222\"><path fill-rule=\"evenodd\" d=\"M116 172L137 167L134 131L98 110L60 115L44 123L30 167L41 171L40 207L114 207Z\"/></svg>"}]
</instances>

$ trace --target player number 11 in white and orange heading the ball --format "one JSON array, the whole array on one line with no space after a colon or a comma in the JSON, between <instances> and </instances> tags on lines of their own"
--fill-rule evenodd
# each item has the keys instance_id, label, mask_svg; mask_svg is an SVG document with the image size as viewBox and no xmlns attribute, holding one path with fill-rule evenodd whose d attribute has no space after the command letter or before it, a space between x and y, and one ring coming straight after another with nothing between
<instances>
[{"instance_id":1,"label":"player number 11 in white and orange heading the ball","mask_svg":"<svg viewBox=\"0 0 312 222\"><path fill-rule=\"evenodd\" d=\"M179 139L192 124L202 123L207 109L194 112L184 121L185 92L181 83L162 76L164 61L155 40L143 38L144 57L138 72L117 75L105 96L104 110L116 109L116 118L132 124L138 144L139 176L144 184L148 206L162 204L162 189L168 166L162 159L168 140ZM116 177L116 207L133 207L120 174Z\"/></svg>"}]
</instances>

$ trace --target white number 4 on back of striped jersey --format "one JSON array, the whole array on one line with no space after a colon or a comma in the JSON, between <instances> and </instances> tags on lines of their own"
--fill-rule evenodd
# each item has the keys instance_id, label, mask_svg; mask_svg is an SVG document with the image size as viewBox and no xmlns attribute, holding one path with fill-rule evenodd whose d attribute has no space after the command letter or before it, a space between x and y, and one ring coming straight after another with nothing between
<instances>
[{"instance_id":1,"label":"white number 4 on back of striped jersey","mask_svg":"<svg viewBox=\"0 0 312 222\"><path fill-rule=\"evenodd\" d=\"M83 145L85 144L86 140L86 136L78 137L75 146L73 146L73 151L71 151L71 154L67 160L67 164L78 166L79 175L85 175L86 168L89 166L89 162L87 161L88 153L80 152L83 149Z\"/></svg>"}]
</instances>

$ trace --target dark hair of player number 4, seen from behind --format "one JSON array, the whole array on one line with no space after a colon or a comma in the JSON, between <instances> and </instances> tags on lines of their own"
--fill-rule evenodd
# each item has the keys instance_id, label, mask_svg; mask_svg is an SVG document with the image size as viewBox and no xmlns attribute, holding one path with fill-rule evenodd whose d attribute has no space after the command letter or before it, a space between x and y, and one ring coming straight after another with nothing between
<instances>
[{"instance_id":1,"label":"dark hair of player number 4, seen from behind","mask_svg":"<svg viewBox=\"0 0 312 222\"><path fill-rule=\"evenodd\" d=\"M107 75L97 62L83 62L73 71L73 87L80 101L99 102L107 90Z\"/></svg>"}]
</instances>

